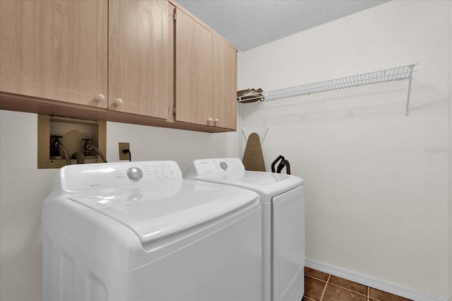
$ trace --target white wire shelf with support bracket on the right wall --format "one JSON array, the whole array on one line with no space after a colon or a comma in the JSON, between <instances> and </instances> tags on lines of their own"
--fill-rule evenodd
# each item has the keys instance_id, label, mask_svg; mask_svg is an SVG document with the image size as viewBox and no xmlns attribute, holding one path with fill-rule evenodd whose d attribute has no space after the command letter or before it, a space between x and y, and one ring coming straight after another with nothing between
<instances>
[{"instance_id":1,"label":"white wire shelf with support bracket on the right wall","mask_svg":"<svg viewBox=\"0 0 452 301\"><path fill-rule=\"evenodd\" d=\"M369 85L371 83L383 83L387 81L400 81L408 79L408 98L405 114L408 115L408 107L410 102L411 78L413 70L417 64L396 67L381 71L359 74L355 76L347 76L343 78L331 79L328 81L319 81L318 83L308 83L306 85L297 85L295 87L283 88L268 92L256 93L254 95L246 95L245 97L237 97L237 102L249 102L250 100L277 100L281 98L290 98L299 95L307 95L311 93L320 93L330 90L357 87L359 85ZM243 99L242 99L243 98ZM263 98L263 99L262 99Z\"/></svg>"}]
</instances>

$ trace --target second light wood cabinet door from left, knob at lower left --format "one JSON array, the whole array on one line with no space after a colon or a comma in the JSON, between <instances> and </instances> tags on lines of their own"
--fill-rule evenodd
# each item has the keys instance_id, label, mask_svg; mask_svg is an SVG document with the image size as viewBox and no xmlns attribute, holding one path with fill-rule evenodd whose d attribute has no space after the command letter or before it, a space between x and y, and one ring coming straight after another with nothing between
<instances>
[{"instance_id":1,"label":"second light wood cabinet door from left, knob at lower left","mask_svg":"<svg viewBox=\"0 0 452 301\"><path fill-rule=\"evenodd\" d=\"M109 1L110 110L168 117L168 5L166 0Z\"/></svg>"}]
</instances>

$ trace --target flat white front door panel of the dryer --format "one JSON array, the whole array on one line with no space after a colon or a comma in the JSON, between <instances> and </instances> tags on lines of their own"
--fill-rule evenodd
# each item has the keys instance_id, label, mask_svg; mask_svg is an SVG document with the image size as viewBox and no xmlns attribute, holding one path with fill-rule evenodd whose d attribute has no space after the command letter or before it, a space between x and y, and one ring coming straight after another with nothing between
<instances>
[{"instance_id":1,"label":"flat white front door panel of the dryer","mask_svg":"<svg viewBox=\"0 0 452 301\"><path fill-rule=\"evenodd\" d=\"M273 300L301 300L304 294L303 186L272 200Z\"/></svg>"}]
</instances>

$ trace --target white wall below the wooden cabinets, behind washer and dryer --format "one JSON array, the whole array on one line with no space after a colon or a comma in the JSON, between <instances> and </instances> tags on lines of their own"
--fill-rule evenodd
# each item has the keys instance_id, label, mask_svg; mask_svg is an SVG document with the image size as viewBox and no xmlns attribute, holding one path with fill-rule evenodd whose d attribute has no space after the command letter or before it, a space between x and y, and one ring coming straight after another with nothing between
<instances>
[{"instance_id":1,"label":"white wall below the wooden cabinets, behind washer and dryer","mask_svg":"<svg viewBox=\"0 0 452 301\"><path fill-rule=\"evenodd\" d=\"M129 142L132 160L175 160L182 172L197 158L237 156L236 133L207 134L107 122L107 160ZM41 294L41 205L57 170L37 170L37 114L0 110L0 300Z\"/></svg>"}]
</instances>

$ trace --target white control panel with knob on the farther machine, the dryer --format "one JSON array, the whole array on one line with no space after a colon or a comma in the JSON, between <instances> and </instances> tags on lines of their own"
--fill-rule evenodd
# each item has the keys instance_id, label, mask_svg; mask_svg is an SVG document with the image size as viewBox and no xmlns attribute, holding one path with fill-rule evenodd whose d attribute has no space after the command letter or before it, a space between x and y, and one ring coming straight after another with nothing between
<instances>
[{"instance_id":1,"label":"white control panel with knob on the farther machine, the dryer","mask_svg":"<svg viewBox=\"0 0 452 301\"><path fill-rule=\"evenodd\" d=\"M189 173L194 175L215 175L225 172L245 170L239 158L215 158L194 160L189 167Z\"/></svg>"}]
</instances>

